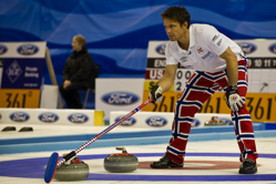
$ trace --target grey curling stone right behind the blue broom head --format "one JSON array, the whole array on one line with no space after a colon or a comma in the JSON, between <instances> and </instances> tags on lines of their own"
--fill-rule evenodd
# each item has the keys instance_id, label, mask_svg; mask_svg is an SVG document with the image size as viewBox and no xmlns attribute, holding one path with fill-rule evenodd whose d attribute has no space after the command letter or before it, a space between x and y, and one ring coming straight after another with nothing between
<instances>
[{"instance_id":1,"label":"grey curling stone right behind the blue broom head","mask_svg":"<svg viewBox=\"0 0 276 184\"><path fill-rule=\"evenodd\" d=\"M89 165L83 161L80 161L75 155L72 160L58 166L53 177L58 181L83 181L88 176Z\"/></svg>"}]
</instances>

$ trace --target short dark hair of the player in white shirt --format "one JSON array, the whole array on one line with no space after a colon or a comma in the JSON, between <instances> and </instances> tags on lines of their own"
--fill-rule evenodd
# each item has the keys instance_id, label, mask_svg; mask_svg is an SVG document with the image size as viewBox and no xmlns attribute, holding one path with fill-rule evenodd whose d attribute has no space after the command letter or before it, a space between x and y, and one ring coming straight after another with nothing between
<instances>
[{"instance_id":1,"label":"short dark hair of the player in white shirt","mask_svg":"<svg viewBox=\"0 0 276 184\"><path fill-rule=\"evenodd\" d=\"M171 19L180 22L181 25L187 21L187 29L190 28L191 16L183 6L168 7L162 14L162 19Z\"/></svg>"}]
</instances>

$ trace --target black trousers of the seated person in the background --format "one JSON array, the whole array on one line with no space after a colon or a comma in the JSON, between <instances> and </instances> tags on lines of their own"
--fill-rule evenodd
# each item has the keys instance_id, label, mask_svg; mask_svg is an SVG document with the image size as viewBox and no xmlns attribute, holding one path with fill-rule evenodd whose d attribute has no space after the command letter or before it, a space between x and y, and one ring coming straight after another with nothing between
<instances>
[{"instance_id":1,"label":"black trousers of the seated person in the background","mask_svg":"<svg viewBox=\"0 0 276 184\"><path fill-rule=\"evenodd\" d=\"M68 109L82 109L82 103L78 91L85 89L88 89L88 84L84 82L73 82L68 85L67 90L63 89L63 83L59 86L60 93L64 99Z\"/></svg>"}]
</instances>

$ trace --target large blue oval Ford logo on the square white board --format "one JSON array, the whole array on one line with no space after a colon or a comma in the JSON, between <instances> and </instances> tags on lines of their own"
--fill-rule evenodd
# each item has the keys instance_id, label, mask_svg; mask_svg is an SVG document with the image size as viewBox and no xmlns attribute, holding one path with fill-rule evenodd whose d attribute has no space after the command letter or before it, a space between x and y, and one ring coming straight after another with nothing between
<instances>
[{"instance_id":1,"label":"large blue oval Ford logo on the square white board","mask_svg":"<svg viewBox=\"0 0 276 184\"><path fill-rule=\"evenodd\" d=\"M102 101L112 105L129 105L139 101L140 98L129 92L112 92L103 95Z\"/></svg>"}]
</instances>

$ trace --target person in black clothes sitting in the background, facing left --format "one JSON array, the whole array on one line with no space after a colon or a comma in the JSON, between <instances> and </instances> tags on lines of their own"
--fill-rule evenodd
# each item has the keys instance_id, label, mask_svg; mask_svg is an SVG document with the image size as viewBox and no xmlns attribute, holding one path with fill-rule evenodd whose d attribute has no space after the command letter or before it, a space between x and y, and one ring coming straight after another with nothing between
<instances>
[{"instance_id":1,"label":"person in black clothes sitting in the background, facing left","mask_svg":"<svg viewBox=\"0 0 276 184\"><path fill-rule=\"evenodd\" d=\"M59 86L69 109L82 109L80 89L94 89L94 60L85 48L86 41L83 35L73 37L73 52L68 58L63 68L63 83Z\"/></svg>"}]
</instances>

